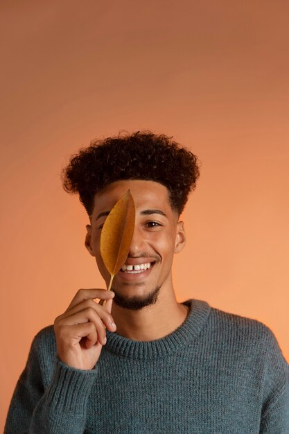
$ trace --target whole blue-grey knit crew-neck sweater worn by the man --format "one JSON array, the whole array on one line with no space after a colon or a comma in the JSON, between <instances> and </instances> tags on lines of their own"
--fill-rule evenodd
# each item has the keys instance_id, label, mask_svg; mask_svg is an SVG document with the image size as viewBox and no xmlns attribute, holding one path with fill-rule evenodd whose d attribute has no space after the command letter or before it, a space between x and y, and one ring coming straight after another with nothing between
<instances>
[{"instance_id":1,"label":"whole blue-grey knit crew-neck sweater worn by the man","mask_svg":"<svg viewBox=\"0 0 289 434\"><path fill-rule=\"evenodd\" d=\"M33 339L5 434L288 434L289 366L262 322L186 300L151 341L107 330L92 370L62 363L53 325Z\"/></svg>"}]
</instances>

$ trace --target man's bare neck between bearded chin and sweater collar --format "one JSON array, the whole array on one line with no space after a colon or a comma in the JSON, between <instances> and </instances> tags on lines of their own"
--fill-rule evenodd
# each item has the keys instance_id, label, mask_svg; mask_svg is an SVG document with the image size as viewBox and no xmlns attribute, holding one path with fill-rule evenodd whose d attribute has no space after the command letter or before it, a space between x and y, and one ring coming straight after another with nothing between
<instances>
[{"instance_id":1,"label":"man's bare neck between bearded chin and sweater collar","mask_svg":"<svg viewBox=\"0 0 289 434\"><path fill-rule=\"evenodd\" d=\"M137 311L112 303L116 333L139 341L157 340L173 333L188 313L189 308L177 302L173 287L170 291L160 290L155 304Z\"/></svg>"}]
</instances>

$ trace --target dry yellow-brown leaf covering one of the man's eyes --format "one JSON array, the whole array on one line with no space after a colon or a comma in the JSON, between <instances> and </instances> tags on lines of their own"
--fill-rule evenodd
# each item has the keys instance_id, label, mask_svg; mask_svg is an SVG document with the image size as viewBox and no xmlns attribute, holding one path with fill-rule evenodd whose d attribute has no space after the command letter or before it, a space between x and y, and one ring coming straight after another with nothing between
<instances>
[{"instance_id":1,"label":"dry yellow-brown leaf covering one of the man's eyes","mask_svg":"<svg viewBox=\"0 0 289 434\"><path fill-rule=\"evenodd\" d=\"M100 255L112 279L125 263L134 234L134 200L128 190L108 214L100 234ZM105 301L103 302L103 306Z\"/></svg>"}]
</instances>

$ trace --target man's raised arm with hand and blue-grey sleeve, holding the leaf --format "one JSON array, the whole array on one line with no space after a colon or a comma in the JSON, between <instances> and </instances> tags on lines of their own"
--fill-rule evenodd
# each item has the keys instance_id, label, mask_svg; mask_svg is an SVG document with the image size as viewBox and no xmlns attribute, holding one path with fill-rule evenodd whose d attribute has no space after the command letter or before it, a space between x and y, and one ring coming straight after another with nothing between
<instances>
[{"instance_id":1,"label":"man's raised arm with hand and blue-grey sleeve, holding the leaf","mask_svg":"<svg viewBox=\"0 0 289 434\"><path fill-rule=\"evenodd\" d=\"M80 289L55 318L53 335L48 329L37 333L12 396L4 434L84 431L105 326L115 331L113 297L104 289ZM105 307L94 302L96 298L107 300Z\"/></svg>"}]
</instances>

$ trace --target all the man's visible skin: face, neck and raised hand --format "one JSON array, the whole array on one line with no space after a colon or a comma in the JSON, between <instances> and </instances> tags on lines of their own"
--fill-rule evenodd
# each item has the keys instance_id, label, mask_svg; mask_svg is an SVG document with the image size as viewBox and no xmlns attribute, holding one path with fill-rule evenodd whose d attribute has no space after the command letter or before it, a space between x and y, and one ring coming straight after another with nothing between
<instances>
[{"instance_id":1,"label":"all the man's visible skin: face, neck and raised hand","mask_svg":"<svg viewBox=\"0 0 289 434\"><path fill-rule=\"evenodd\" d=\"M128 269L116 274L112 291L78 290L67 310L54 321L60 360L80 370L94 369L106 343L106 329L133 340L156 340L173 333L188 314L188 308L175 298L171 270L173 255L186 243L184 223L171 208L165 186L152 181L118 181L97 193L85 245L108 286L110 275L99 249L106 217L98 216L107 215L128 189L136 206ZM107 303L103 306L96 299Z\"/></svg>"}]
</instances>

